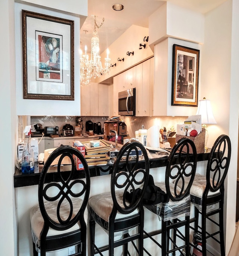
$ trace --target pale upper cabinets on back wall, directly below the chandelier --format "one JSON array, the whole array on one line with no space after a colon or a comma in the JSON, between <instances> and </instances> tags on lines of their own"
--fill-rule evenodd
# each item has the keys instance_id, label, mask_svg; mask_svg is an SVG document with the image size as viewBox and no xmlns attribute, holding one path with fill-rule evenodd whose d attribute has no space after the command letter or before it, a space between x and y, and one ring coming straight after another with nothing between
<instances>
[{"instance_id":1,"label":"pale upper cabinets on back wall, directly below the chandelier","mask_svg":"<svg viewBox=\"0 0 239 256\"><path fill-rule=\"evenodd\" d=\"M108 85L90 83L81 86L81 115L108 116Z\"/></svg>"}]
</instances>

